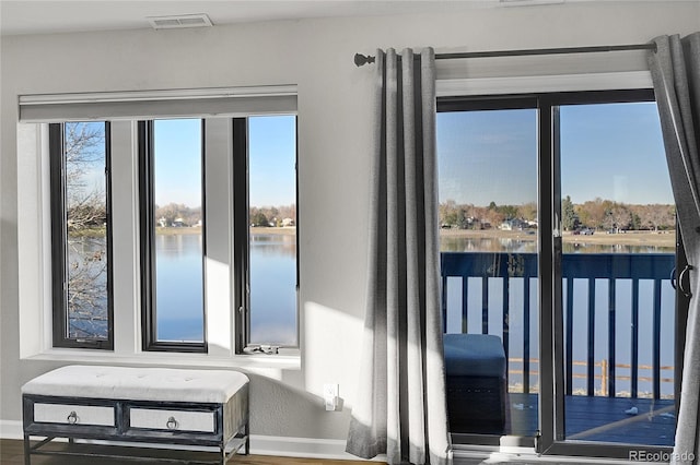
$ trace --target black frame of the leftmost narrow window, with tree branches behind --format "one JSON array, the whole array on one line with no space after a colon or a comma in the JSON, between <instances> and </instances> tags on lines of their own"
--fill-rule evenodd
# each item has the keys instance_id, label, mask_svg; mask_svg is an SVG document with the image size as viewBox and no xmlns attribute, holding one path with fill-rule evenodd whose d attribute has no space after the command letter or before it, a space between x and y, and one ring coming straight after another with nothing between
<instances>
[{"instance_id":1,"label":"black frame of the leftmost narrow window, with tree branches behind","mask_svg":"<svg viewBox=\"0 0 700 465\"><path fill-rule=\"evenodd\" d=\"M52 346L114 350L114 281L112 225L112 143L109 122L105 121L105 202L107 253L107 338L91 339L68 336L68 229L66 211L66 153L65 124L48 124L49 190L51 218L51 303Z\"/></svg>"}]
</instances>

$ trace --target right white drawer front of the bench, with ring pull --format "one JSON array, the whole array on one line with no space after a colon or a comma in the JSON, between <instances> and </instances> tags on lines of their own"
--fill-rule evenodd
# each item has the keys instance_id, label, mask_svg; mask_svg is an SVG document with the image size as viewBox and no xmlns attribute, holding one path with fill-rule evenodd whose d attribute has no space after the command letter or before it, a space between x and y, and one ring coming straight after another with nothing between
<instances>
[{"instance_id":1,"label":"right white drawer front of the bench, with ring pull","mask_svg":"<svg viewBox=\"0 0 700 465\"><path fill-rule=\"evenodd\" d=\"M131 428L211 433L215 431L214 412L131 407L129 422Z\"/></svg>"}]
</instances>

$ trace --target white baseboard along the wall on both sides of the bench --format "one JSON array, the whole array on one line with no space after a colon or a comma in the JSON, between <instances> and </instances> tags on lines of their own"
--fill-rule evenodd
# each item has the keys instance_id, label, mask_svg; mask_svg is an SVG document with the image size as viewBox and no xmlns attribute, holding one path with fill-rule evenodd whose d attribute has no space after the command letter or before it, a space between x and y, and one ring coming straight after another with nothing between
<instances>
[{"instance_id":1,"label":"white baseboard along the wall on both sides of the bench","mask_svg":"<svg viewBox=\"0 0 700 465\"><path fill-rule=\"evenodd\" d=\"M22 421L0 420L0 439L23 439ZM327 460L359 460L346 452L346 441L339 439L288 438L250 434L250 453ZM376 457L374 461L386 461Z\"/></svg>"}]
</instances>

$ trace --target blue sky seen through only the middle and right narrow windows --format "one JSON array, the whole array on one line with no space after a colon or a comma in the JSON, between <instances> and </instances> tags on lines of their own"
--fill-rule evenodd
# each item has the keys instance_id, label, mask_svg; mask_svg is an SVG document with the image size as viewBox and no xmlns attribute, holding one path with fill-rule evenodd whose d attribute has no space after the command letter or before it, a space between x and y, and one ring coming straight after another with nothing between
<instances>
[{"instance_id":1,"label":"blue sky seen through only the middle and right narrow windows","mask_svg":"<svg viewBox=\"0 0 700 465\"><path fill-rule=\"evenodd\" d=\"M294 116L248 119L250 206L295 203L295 124ZM155 203L200 206L201 120L158 120L154 143Z\"/></svg>"}]
</instances>

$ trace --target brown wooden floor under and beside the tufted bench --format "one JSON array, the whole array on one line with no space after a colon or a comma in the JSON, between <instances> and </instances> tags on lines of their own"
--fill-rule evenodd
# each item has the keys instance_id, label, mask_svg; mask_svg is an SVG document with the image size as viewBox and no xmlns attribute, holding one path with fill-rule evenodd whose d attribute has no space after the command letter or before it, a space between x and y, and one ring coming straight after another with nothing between
<instances>
[{"instance_id":1,"label":"brown wooden floor under and beside the tufted bench","mask_svg":"<svg viewBox=\"0 0 700 465\"><path fill-rule=\"evenodd\" d=\"M65 450L68 448L67 443L51 444L51 448L57 450ZM128 448L120 448L128 452ZM94 453L100 454L105 448L95 446ZM184 458L182 452L175 453L177 458ZM206 457L202 457L207 460ZM196 457L192 457L196 460ZM201 460L201 458L200 458ZM135 464L139 461L133 460L116 460L116 458L102 458L98 455L94 455L85 458L77 457L56 457L48 455L32 455L32 465L95 465L98 462L100 465L118 465L118 464ZM167 462L149 462L151 464L160 464ZM376 462L374 462L376 463ZM22 441L1 439L0 440L0 465L15 465L24 464L24 445ZM359 465L366 464L361 461L334 461L325 458L294 458L294 457L273 457L266 455L236 455L232 457L228 465ZM380 463L381 464L381 463Z\"/></svg>"}]
</instances>

